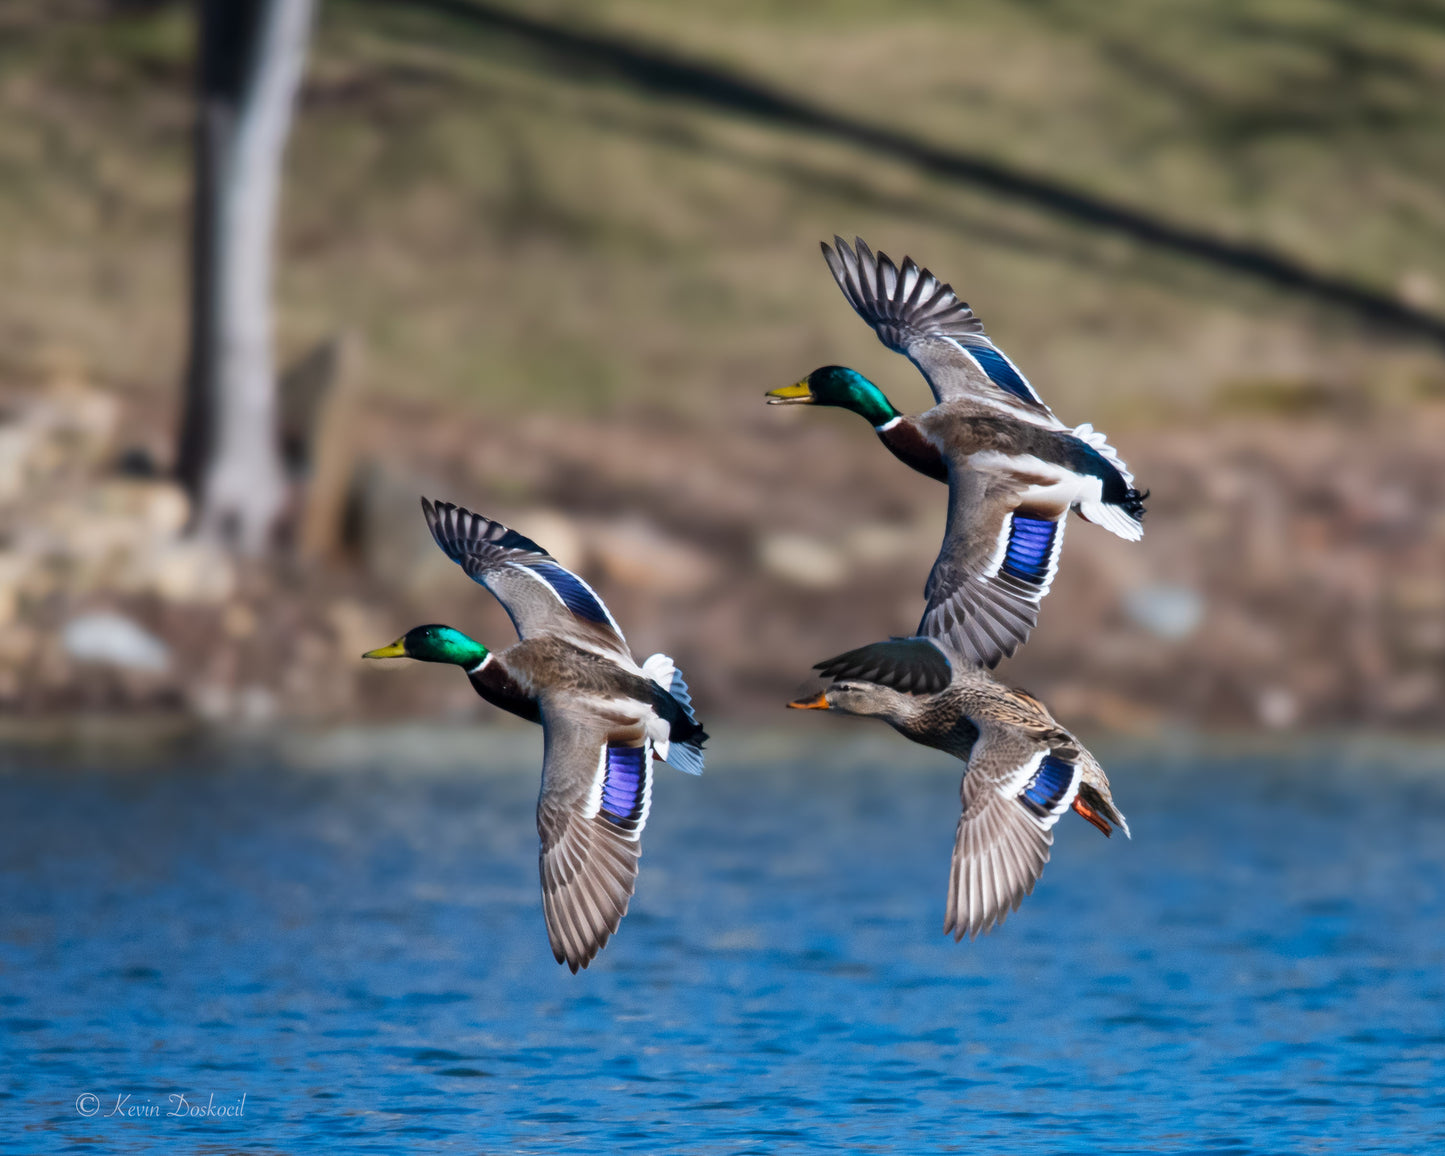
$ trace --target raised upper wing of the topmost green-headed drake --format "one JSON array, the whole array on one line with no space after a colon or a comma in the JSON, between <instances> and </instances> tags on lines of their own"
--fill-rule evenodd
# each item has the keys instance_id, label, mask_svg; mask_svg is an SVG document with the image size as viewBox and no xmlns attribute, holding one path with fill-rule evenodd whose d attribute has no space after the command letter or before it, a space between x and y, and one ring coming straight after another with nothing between
<instances>
[{"instance_id":1,"label":"raised upper wing of the topmost green-headed drake","mask_svg":"<svg viewBox=\"0 0 1445 1156\"><path fill-rule=\"evenodd\" d=\"M974 396L1040 425L1061 425L952 286L912 257L899 269L861 237L854 240L857 251L842 237L834 237L834 244L824 243L822 256L848 303L879 341L918 366L935 399Z\"/></svg>"}]
</instances>

